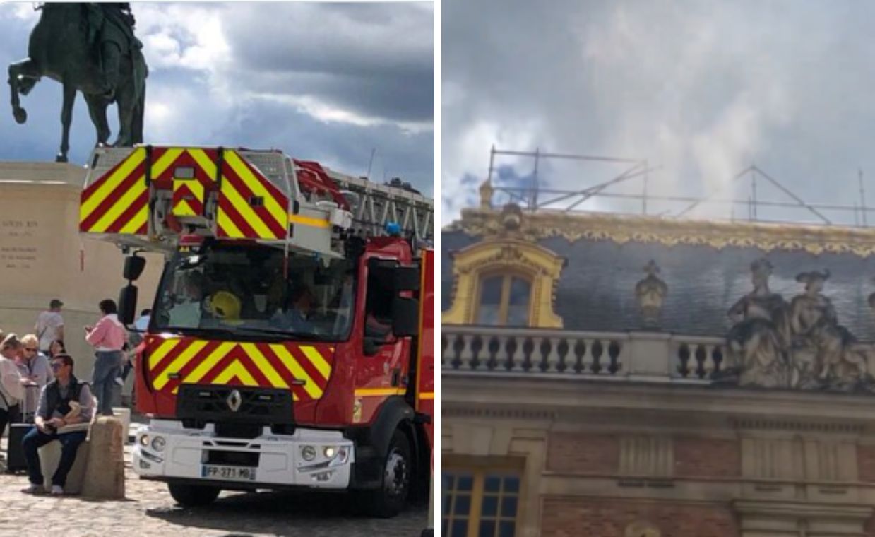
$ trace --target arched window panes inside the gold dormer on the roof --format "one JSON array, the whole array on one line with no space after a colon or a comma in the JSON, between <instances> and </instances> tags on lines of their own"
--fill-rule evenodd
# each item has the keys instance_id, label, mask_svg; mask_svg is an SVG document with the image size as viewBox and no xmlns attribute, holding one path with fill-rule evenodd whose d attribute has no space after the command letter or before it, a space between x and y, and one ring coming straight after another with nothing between
<instances>
[{"instance_id":1,"label":"arched window panes inside the gold dormer on the roof","mask_svg":"<svg viewBox=\"0 0 875 537\"><path fill-rule=\"evenodd\" d=\"M528 326L532 283L514 273L485 275L479 281L475 324Z\"/></svg>"}]
</instances>

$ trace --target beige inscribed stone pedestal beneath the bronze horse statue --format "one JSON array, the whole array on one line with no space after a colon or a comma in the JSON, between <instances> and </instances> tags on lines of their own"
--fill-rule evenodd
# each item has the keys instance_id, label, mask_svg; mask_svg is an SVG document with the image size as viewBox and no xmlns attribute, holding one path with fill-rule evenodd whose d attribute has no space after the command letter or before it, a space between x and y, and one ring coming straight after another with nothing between
<instances>
[{"instance_id":1,"label":"beige inscribed stone pedestal beneath the bronze horse statue","mask_svg":"<svg viewBox=\"0 0 875 537\"><path fill-rule=\"evenodd\" d=\"M79 233L84 180L84 168L72 164L0 162L0 329L24 336L49 300L63 300L73 373L90 380L95 350L83 327L100 319L98 302L116 300L126 282L122 252ZM137 311L151 307L164 264L158 254L145 257Z\"/></svg>"}]
</instances>

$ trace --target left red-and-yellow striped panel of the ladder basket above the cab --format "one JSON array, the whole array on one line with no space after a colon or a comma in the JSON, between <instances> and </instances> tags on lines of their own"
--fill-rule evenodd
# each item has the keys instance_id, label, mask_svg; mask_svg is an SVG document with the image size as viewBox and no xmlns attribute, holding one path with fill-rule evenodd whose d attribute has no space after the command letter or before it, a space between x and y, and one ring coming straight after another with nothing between
<instances>
[{"instance_id":1,"label":"left red-and-yellow striped panel of the ladder basket above the cab","mask_svg":"<svg viewBox=\"0 0 875 537\"><path fill-rule=\"evenodd\" d=\"M144 235L149 220L144 147L88 185L79 205L79 230Z\"/></svg>"}]
</instances>

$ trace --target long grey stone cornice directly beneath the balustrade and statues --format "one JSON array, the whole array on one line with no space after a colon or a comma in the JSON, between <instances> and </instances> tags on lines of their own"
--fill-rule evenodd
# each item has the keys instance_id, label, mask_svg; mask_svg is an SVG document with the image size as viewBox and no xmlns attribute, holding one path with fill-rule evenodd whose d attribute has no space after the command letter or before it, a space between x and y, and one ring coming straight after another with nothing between
<instances>
[{"instance_id":1,"label":"long grey stone cornice directly beneath the balustrade and statues","mask_svg":"<svg viewBox=\"0 0 875 537\"><path fill-rule=\"evenodd\" d=\"M574 420L599 416L663 425L875 434L872 396L787 390L636 385L549 378L444 377L444 415ZM521 402L520 393L525 393Z\"/></svg>"}]
</instances>

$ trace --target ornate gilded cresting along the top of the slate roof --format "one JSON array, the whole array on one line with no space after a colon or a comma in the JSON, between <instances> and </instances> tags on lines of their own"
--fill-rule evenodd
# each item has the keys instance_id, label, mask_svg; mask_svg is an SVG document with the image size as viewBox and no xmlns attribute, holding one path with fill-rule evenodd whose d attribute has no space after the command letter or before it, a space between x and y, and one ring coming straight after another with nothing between
<instances>
[{"instance_id":1,"label":"ornate gilded cresting along the top of the slate roof","mask_svg":"<svg viewBox=\"0 0 875 537\"><path fill-rule=\"evenodd\" d=\"M478 237L507 236L496 209L463 209L461 220L444 231L463 231ZM539 210L523 213L514 237L539 240L564 237L571 242L606 240L710 246L722 250L729 246L759 248L762 251L786 250L851 253L867 257L875 253L875 229L804 224L713 222L667 219L656 216L628 216L602 213L565 213Z\"/></svg>"}]
</instances>

